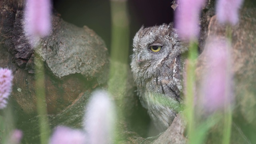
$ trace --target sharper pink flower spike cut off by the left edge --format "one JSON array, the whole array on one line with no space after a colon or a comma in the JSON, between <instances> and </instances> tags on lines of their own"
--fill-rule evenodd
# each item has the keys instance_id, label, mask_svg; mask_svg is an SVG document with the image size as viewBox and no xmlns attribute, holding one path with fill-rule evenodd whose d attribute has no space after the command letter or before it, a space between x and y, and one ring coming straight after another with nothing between
<instances>
[{"instance_id":1,"label":"sharper pink flower spike cut off by the left edge","mask_svg":"<svg viewBox=\"0 0 256 144\"><path fill-rule=\"evenodd\" d=\"M0 68L0 109L6 107L8 96L12 90L12 71Z\"/></svg>"}]
</instances>

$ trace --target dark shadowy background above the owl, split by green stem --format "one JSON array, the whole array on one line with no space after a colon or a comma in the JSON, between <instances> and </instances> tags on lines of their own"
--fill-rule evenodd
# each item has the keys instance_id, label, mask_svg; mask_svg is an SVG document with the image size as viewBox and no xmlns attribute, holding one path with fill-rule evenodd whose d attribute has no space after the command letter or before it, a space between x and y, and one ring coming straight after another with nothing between
<instances>
[{"instance_id":1,"label":"dark shadowy background above the owl, split by green stem","mask_svg":"<svg viewBox=\"0 0 256 144\"><path fill-rule=\"evenodd\" d=\"M173 21L172 0L128 0L130 16L130 46L132 38L144 25L154 26ZM94 30L110 49L110 0L53 0L61 17L76 26Z\"/></svg>"}]
</instances>

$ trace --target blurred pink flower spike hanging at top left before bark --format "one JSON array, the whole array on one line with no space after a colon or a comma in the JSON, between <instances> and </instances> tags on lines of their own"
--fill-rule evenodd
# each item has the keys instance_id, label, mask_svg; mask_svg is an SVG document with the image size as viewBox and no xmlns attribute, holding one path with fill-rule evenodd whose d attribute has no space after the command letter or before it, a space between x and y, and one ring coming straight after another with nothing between
<instances>
[{"instance_id":1,"label":"blurred pink flower spike hanging at top left before bark","mask_svg":"<svg viewBox=\"0 0 256 144\"><path fill-rule=\"evenodd\" d=\"M26 0L24 19L24 31L31 38L30 44L48 35L51 28L50 0Z\"/></svg>"}]
</instances>

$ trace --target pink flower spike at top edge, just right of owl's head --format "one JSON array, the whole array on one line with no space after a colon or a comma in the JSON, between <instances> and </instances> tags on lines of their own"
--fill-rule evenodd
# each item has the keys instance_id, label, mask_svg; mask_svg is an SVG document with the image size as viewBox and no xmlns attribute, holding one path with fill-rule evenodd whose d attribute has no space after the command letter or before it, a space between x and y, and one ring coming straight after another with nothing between
<instances>
[{"instance_id":1,"label":"pink flower spike at top edge, just right of owl's head","mask_svg":"<svg viewBox=\"0 0 256 144\"><path fill-rule=\"evenodd\" d=\"M184 40L194 40L199 34L199 16L205 0L179 0L175 11L175 27Z\"/></svg>"}]
</instances>

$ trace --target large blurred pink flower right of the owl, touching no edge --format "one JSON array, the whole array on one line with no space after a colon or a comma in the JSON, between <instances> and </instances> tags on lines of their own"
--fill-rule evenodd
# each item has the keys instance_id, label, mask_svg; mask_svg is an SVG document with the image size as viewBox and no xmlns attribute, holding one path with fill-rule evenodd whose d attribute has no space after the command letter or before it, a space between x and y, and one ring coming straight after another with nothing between
<instances>
[{"instance_id":1,"label":"large blurred pink flower right of the owl, touching no edge","mask_svg":"<svg viewBox=\"0 0 256 144\"><path fill-rule=\"evenodd\" d=\"M204 110L215 110L229 106L232 97L232 72L230 44L227 40L212 38L206 42L206 74L202 83L201 100Z\"/></svg>"}]
</instances>

